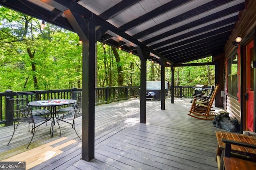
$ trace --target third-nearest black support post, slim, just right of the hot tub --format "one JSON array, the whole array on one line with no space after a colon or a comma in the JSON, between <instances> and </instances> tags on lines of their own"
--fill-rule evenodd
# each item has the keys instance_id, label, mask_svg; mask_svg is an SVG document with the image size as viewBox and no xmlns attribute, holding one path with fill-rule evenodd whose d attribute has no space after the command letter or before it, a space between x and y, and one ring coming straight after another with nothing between
<instances>
[{"instance_id":1,"label":"third-nearest black support post, slim, just right of the hot tub","mask_svg":"<svg viewBox=\"0 0 256 170\"><path fill-rule=\"evenodd\" d=\"M166 61L164 61L163 59L160 59L160 65L161 65L161 109L165 110L165 96L166 96L165 65L166 65Z\"/></svg>"}]
</instances>

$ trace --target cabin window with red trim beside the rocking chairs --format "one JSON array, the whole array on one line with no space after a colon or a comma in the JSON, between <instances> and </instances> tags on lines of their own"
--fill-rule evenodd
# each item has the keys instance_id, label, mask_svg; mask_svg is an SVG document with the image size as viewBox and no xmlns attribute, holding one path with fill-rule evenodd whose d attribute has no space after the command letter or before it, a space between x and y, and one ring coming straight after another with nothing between
<instances>
[{"instance_id":1,"label":"cabin window with red trim beside the rocking chairs","mask_svg":"<svg viewBox=\"0 0 256 170\"><path fill-rule=\"evenodd\" d=\"M237 98L238 93L238 54L228 59L228 94Z\"/></svg>"}]
</instances>

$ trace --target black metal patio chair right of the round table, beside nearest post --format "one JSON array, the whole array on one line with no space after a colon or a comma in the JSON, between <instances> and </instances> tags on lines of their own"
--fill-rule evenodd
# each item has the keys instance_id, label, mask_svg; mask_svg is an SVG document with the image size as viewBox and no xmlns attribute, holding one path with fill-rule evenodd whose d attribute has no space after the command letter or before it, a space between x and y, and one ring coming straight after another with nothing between
<instances>
[{"instance_id":1,"label":"black metal patio chair right of the round table, beside nearest post","mask_svg":"<svg viewBox=\"0 0 256 170\"><path fill-rule=\"evenodd\" d=\"M60 121L69 123L76 132L75 118L82 116L82 96L78 96L77 103L74 104L74 107L66 108L57 110L56 121L58 124L60 123ZM77 132L76 135L79 137L79 139L81 139Z\"/></svg>"}]
</instances>

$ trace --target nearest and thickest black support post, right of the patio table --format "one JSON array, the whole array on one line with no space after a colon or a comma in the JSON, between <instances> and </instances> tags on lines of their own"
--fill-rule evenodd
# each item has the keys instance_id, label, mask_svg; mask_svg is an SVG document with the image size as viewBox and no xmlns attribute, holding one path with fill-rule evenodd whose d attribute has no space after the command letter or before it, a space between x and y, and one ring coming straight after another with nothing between
<instances>
[{"instance_id":1,"label":"nearest and thickest black support post, right of the patio table","mask_svg":"<svg viewBox=\"0 0 256 170\"><path fill-rule=\"evenodd\" d=\"M83 97L82 97L82 159L94 158L95 119L95 25L87 22L87 40L83 41Z\"/></svg>"}]
</instances>

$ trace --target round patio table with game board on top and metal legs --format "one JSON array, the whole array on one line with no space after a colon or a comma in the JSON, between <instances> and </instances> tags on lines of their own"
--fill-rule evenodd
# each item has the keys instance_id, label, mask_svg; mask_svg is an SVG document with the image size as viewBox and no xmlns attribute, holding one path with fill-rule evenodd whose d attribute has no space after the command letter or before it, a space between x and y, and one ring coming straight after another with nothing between
<instances>
[{"instance_id":1,"label":"round patio table with game board on top and metal legs","mask_svg":"<svg viewBox=\"0 0 256 170\"><path fill-rule=\"evenodd\" d=\"M54 130L54 125L55 125L55 119L54 116L56 117L56 108L57 106L64 106L64 105L69 105L69 104L74 104L76 103L76 100L73 99L50 99L50 100L37 100L33 102L29 102L30 106L37 106L37 107L50 107L51 111L51 117L52 117L52 124L50 127L50 135L53 137L53 130ZM60 126L59 126L60 128Z\"/></svg>"}]
</instances>

